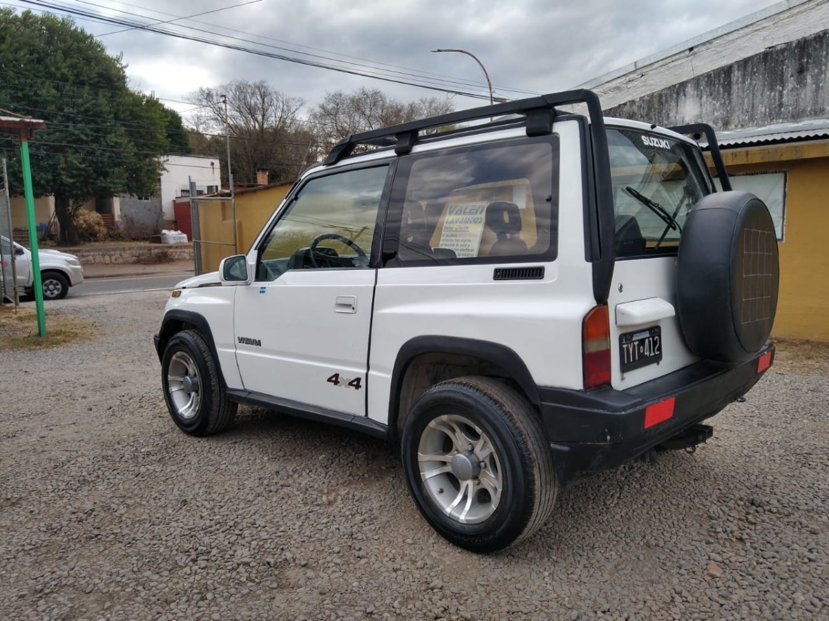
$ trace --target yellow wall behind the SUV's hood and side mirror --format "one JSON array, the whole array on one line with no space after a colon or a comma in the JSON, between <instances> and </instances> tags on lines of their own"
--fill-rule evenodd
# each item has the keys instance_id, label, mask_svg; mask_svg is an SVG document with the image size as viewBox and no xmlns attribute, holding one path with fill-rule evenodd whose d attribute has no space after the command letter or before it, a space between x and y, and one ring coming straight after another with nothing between
<instances>
[{"instance_id":1,"label":"yellow wall behind the SUV's hood and side mirror","mask_svg":"<svg viewBox=\"0 0 829 621\"><path fill-rule=\"evenodd\" d=\"M236 247L247 253L264 223L288 194L291 184L262 185L235 194ZM201 230L201 271L214 272L233 252L233 209L230 201L199 202Z\"/></svg>"}]
</instances>

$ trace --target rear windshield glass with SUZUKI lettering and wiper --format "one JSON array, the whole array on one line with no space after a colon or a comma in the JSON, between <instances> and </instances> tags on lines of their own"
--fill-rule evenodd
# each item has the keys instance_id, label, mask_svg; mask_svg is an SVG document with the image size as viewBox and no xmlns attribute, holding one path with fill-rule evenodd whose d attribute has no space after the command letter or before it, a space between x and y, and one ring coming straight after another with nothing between
<instances>
[{"instance_id":1,"label":"rear windshield glass with SUZUKI lettering and wiper","mask_svg":"<svg viewBox=\"0 0 829 621\"><path fill-rule=\"evenodd\" d=\"M608 128L616 257L676 253L708 182L695 148L659 134Z\"/></svg>"}]
</instances>

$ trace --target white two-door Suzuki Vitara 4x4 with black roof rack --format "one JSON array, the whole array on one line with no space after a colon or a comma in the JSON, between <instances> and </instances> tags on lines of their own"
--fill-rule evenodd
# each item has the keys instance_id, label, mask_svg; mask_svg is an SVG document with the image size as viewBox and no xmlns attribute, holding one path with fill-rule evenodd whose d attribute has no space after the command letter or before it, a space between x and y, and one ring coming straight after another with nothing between
<instances>
[{"instance_id":1,"label":"white two-door Suzuki Vitara 4x4 with black roof rack","mask_svg":"<svg viewBox=\"0 0 829 621\"><path fill-rule=\"evenodd\" d=\"M173 291L173 421L250 403L399 441L420 512L473 551L579 476L692 449L772 363L778 295L768 210L715 192L696 132L729 190L708 126L605 119L586 90L347 138Z\"/></svg>"}]
</instances>

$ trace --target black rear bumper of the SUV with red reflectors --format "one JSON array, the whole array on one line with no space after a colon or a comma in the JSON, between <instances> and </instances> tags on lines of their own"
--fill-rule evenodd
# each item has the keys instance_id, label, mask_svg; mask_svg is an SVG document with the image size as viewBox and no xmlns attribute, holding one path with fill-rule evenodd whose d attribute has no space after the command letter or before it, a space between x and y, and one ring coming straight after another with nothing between
<instances>
[{"instance_id":1,"label":"black rear bumper of the SUV with red reflectors","mask_svg":"<svg viewBox=\"0 0 829 621\"><path fill-rule=\"evenodd\" d=\"M773 362L771 343L736 366L703 361L625 391L539 388L559 483L614 468L714 416Z\"/></svg>"}]
</instances>

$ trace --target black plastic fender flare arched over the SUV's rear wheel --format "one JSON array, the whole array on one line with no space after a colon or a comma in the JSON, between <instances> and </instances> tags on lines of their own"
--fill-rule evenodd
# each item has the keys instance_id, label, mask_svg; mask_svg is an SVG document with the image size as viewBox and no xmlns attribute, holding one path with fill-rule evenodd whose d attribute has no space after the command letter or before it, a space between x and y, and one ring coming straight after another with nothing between
<instances>
[{"instance_id":1,"label":"black plastic fender flare arched over the SUV's rear wheel","mask_svg":"<svg viewBox=\"0 0 829 621\"><path fill-rule=\"evenodd\" d=\"M529 397L538 405L541 402L539 389L521 356L506 345L478 339L462 339L445 335L424 335L406 341L397 352L394 370L391 373L391 394L389 399L389 431L395 433L400 410L400 388L403 376L410 363L422 354L456 354L471 356L489 363L497 364L518 383Z\"/></svg>"}]
</instances>

